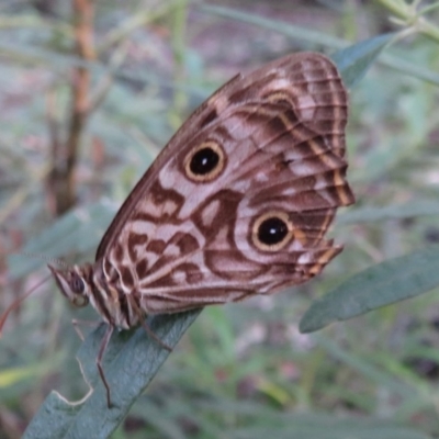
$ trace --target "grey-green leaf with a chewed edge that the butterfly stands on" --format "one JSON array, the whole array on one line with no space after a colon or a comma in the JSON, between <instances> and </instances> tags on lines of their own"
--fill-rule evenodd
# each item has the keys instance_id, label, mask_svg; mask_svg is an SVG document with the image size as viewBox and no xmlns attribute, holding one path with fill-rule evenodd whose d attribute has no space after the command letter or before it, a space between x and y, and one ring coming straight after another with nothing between
<instances>
[{"instance_id":1,"label":"grey-green leaf with a chewed edge that the butterfly stands on","mask_svg":"<svg viewBox=\"0 0 439 439\"><path fill-rule=\"evenodd\" d=\"M147 324L161 341L173 348L200 312L155 316ZM124 419L169 351L151 340L144 328L114 334L103 359L114 405L109 409L95 365L105 329L105 325L95 329L78 352L81 370L93 392L79 404L69 403L53 392L29 425L23 439L108 438Z\"/></svg>"}]
</instances>

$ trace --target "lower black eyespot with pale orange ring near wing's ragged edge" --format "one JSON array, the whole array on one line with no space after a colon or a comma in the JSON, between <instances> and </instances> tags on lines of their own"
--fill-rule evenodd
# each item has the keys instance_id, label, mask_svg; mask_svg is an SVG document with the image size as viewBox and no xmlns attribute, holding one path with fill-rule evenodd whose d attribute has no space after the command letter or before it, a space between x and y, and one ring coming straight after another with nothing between
<instances>
[{"instance_id":1,"label":"lower black eyespot with pale orange ring near wing's ragged edge","mask_svg":"<svg viewBox=\"0 0 439 439\"><path fill-rule=\"evenodd\" d=\"M251 237L258 249L277 251L291 241L293 224L285 212L267 212L255 221Z\"/></svg>"}]
</instances>

